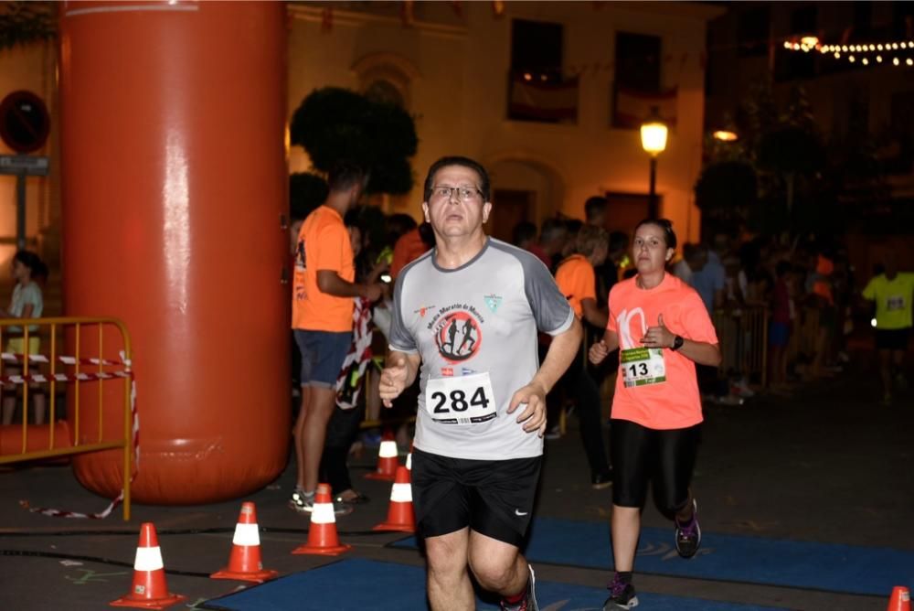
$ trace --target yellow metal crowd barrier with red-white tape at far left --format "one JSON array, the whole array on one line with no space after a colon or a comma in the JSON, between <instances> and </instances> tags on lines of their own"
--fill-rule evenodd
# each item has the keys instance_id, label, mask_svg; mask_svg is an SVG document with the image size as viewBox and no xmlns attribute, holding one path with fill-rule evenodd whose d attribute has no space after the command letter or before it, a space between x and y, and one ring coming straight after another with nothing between
<instances>
[{"instance_id":1,"label":"yellow metal crowd barrier with red-white tape at far left","mask_svg":"<svg viewBox=\"0 0 914 611\"><path fill-rule=\"evenodd\" d=\"M14 326L22 329L21 334L9 331L9 327ZM30 327L38 328L31 330ZM118 360L104 357L104 331L111 327L117 331L118 337L109 336L109 341L121 352ZM29 340L36 337L40 339L40 348L37 354L29 354ZM22 339L21 353L7 350L10 338ZM70 354L61 352L64 338L68 342L68 349L72 348ZM87 344L92 345L90 350L83 349ZM0 359L0 394L4 397L9 392L18 394L18 388L22 388L21 422L0 426L0 465L120 448L123 451L123 519L130 520L133 373L130 368L131 341L127 328L120 320L106 317L5 318L0 319L0 346L4 349ZM112 349L112 343L109 343L109 352ZM58 388L64 384L72 384L72 412L66 414L66 421L59 418L66 409L58 409ZM86 384L95 384L97 393L87 391ZM114 384L123 386L123 392L119 393L123 424L120 433L112 435L112 431L104 429L103 407L105 389ZM29 424L30 408L35 403L33 398L30 404L29 397L34 397L37 388L47 389L46 423ZM90 411L90 407L85 405L86 397L81 395L87 393L97 396L97 400L91 399L95 405L90 406L97 407L97 422L86 420L84 412ZM97 431L94 434L85 433L86 429L91 428L96 428ZM112 440L112 436L116 438Z\"/></svg>"}]
</instances>

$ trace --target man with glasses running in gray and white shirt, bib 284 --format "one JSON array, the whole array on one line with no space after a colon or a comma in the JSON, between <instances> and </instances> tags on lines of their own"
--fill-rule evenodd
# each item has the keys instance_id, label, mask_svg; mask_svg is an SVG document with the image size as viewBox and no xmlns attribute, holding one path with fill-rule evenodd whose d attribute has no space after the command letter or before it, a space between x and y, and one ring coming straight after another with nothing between
<instances>
[{"instance_id":1,"label":"man with glasses running in gray and white shirt, bib 284","mask_svg":"<svg viewBox=\"0 0 914 611\"><path fill-rule=\"evenodd\" d=\"M412 496L433 610L475 608L468 566L503 609L538 608L519 548L539 481L546 394L581 338L546 266L484 234L489 191L472 159L429 168L422 209L437 245L399 274L380 380L389 406L420 374ZM467 354L448 347L457 324L473 338L462 344ZM542 365L537 329L553 336Z\"/></svg>"}]
</instances>

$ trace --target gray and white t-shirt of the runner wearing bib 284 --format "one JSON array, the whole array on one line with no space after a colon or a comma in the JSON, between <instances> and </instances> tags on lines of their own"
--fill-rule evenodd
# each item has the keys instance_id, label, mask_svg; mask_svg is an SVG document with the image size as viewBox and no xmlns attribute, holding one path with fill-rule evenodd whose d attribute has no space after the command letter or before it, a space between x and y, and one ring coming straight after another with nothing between
<instances>
[{"instance_id":1,"label":"gray and white t-shirt of the runner wearing bib 284","mask_svg":"<svg viewBox=\"0 0 914 611\"><path fill-rule=\"evenodd\" d=\"M394 289L390 348L419 353L415 446L457 458L543 453L543 440L505 413L539 368L537 329L566 331L574 310L533 254L490 238L455 270L434 251L410 263Z\"/></svg>"}]
</instances>

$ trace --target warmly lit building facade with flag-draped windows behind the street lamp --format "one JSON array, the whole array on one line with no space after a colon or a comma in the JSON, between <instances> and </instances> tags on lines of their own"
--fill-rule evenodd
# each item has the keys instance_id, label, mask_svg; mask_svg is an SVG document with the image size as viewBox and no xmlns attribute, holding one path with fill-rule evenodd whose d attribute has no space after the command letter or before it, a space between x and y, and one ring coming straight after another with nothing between
<instances>
[{"instance_id":1,"label":"warmly lit building facade with flag-draped windows behind the street lamp","mask_svg":"<svg viewBox=\"0 0 914 611\"><path fill-rule=\"evenodd\" d=\"M293 3L290 116L328 85L401 103L416 118L417 187L388 211L419 219L426 168L468 155L492 174L489 230L505 238L519 220L580 219L598 194L611 197L611 229L631 230L649 188L637 123L656 105L671 124L660 212L694 239L705 25L722 12L693 3ZM300 147L290 166L308 169Z\"/></svg>"}]
</instances>

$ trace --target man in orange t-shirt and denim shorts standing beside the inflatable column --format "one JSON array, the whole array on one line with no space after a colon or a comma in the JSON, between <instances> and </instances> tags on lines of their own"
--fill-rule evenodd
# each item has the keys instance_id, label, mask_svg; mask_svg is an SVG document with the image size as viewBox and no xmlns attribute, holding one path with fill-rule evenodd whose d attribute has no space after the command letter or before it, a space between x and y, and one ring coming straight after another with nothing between
<instances>
[{"instance_id":1,"label":"man in orange t-shirt and denim shorts standing beside the inflatable column","mask_svg":"<svg viewBox=\"0 0 914 611\"><path fill-rule=\"evenodd\" d=\"M292 329L302 351L302 409L295 422L298 479L292 509L314 509L317 472L327 423L336 404L336 378L352 337L353 297L371 301L380 284L356 284L352 244L343 217L365 188L357 166L339 163L330 170L330 193L302 224L292 283Z\"/></svg>"}]
</instances>

